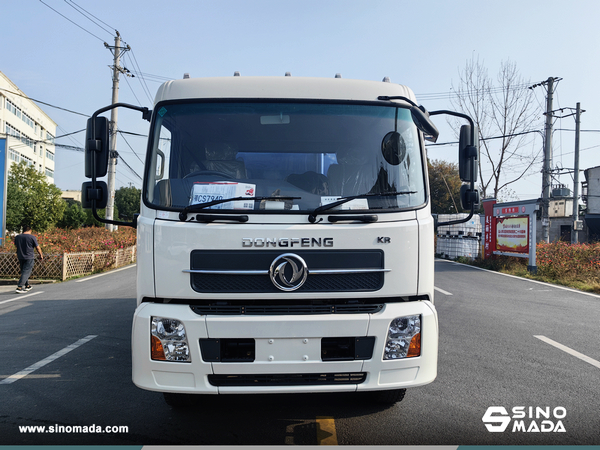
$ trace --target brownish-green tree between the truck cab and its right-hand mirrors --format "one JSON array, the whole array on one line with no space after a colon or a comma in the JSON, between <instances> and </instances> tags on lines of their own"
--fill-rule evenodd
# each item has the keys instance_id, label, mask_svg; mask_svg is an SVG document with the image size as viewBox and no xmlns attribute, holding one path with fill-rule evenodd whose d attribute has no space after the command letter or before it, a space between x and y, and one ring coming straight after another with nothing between
<instances>
[{"instance_id":1,"label":"brownish-green tree between the truck cab and its right-hand mirrors","mask_svg":"<svg viewBox=\"0 0 600 450\"><path fill-rule=\"evenodd\" d=\"M427 160L429 186L431 190L431 212L433 214L456 214L460 206L458 167L446 161Z\"/></svg>"}]
</instances>

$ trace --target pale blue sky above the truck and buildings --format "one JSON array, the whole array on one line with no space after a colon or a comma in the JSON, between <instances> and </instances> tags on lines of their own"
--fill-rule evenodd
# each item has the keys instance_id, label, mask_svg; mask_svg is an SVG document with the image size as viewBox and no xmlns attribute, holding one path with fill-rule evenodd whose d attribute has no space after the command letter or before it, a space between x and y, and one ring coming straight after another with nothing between
<instances>
[{"instance_id":1,"label":"pale blue sky above the truck and buildings","mask_svg":"<svg viewBox=\"0 0 600 450\"><path fill-rule=\"evenodd\" d=\"M118 30L131 48L122 65L136 75L120 77L119 101L150 108L168 79L239 71L326 78L340 73L375 81L387 76L409 86L430 111L455 109L452 91L467 60L479 58L492 77L510 60L532 85L562 79L553 109L581 103L580 168L600 165L597 0L0 0L0 7L0 71L29 97L53 105L39 104L58 124L57 136L70 134L57 144L82 148L86 116L111 103L113 61L104 43L114 45ZM534 92L535 129L541 131L546 91ZM456 141L443 117L434 120L439 143ZM118 126L148 132L133 111L120 110ZM572 169L575 120L556 119L554 128L553 167ZM141 188L145 139L124 136L117 144L123 159L117 187ZM543 144L533 133L525 145L538 152ZM429 147L428 156L458 159L455 145ZM83 161L81 151L57 147L55 184L80 189ZM511 185L507 199L540 197L540 170L541 162ZM485 168L484 177L490 172ZM572 188L572 178L565 171L553 182Z\"/></svg>"}]
</instances>

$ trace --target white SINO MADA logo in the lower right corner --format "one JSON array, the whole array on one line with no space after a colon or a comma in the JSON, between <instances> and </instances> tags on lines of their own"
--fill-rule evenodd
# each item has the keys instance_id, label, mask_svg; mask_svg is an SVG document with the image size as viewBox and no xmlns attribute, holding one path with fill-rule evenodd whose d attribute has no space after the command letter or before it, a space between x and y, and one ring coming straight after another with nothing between
<instances>
[{"instance_id":1,"label":"white SINO MADA logo in the lower right corner","mask_svg":"<svg viewBox=\"0 0 600 450\"><path fill-rule=\"evenodd\" d=\"M515 406L511 413L504 406L490 406L482 417L490 433L503 433L510 429L522 433L564 433L562 419L567 416L566 408L557 406Z\"/></svg>"}]
</instances>

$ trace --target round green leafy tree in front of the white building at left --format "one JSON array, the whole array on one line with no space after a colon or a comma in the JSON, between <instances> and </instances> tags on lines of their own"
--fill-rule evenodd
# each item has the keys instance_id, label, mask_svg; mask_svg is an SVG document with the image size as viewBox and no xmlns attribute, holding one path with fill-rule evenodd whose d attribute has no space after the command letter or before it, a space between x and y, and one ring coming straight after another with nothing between
<instances>
[{"instance_id":1,"label":"round green leafy tree in front of the white building at left","mask_svg":"<svg viewBox=\"0 0 600 450\"><path fill-rule=\"evenodd\" d=\"M37 232L52 228L66 207L61 194L44 174L24 161L13 164L7 181L6 229L20 232L24 224Z\"/></svg>"}]
</instances>

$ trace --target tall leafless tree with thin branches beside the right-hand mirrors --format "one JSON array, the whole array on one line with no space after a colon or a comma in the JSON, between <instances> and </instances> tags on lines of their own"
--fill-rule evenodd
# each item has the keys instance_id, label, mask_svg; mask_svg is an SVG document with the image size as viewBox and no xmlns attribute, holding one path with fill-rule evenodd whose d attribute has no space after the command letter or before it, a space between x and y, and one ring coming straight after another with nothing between
<instances>
[{"instance_id":1,"label":"tall leafless tree with thin branches beside the right-hand mirrors","mask_svg":"<svg viewBox=\"0 0 600 450\"><path fill-rule=\"evenodd\" d=\"M523 178L540 159L525 146L539 114L533 108L533 91L511 61L503 61L495 80L479 57L459 71L460 83L452 86L453 106L470 115L479 128L479 182L482 197L498 198L499 192ZM491 174L487 166L491 167ZM484 170L482 170L482 168Z\"/></svg>"}]
</instances>

